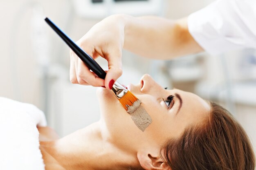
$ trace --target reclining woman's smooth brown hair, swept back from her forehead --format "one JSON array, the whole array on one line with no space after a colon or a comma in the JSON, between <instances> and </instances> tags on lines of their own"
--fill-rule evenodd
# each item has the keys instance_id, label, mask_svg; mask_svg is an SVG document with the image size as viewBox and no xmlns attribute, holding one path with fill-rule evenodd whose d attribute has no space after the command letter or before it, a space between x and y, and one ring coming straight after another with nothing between
<instances>
[{"instance_id":1,"label":"reclining woman's smooth brown hair, swept back from her forehead","mask_svg":"<svg viewBox=\"0 0 256 170\"><path fill-rule=\"evenodd\" d=\"M255 157L245 130L225 109L210 102L204 125L188 127L162 147L171 170L254 170Z\"/></svg>"}]
</instances>

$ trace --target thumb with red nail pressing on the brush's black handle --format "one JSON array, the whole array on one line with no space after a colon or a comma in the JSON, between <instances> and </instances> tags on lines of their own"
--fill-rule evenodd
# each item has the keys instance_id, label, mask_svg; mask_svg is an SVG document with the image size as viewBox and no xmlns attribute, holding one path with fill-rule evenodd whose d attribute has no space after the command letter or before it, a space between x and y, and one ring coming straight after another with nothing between
<instances>
[{"instance_id":1,"label":"thumb with red nail pressing on the brush's black handle","mask_svg":"<svg viewBox=\"0 0 256 170\"><path fill-rule=\"evenodd\" d=\"M111 89L115 81L117 81L117 79L122 75L122 73L123 69L120 51L108 57L108 72L105 78L106 88Z\"/></svg>"}]
</instances>

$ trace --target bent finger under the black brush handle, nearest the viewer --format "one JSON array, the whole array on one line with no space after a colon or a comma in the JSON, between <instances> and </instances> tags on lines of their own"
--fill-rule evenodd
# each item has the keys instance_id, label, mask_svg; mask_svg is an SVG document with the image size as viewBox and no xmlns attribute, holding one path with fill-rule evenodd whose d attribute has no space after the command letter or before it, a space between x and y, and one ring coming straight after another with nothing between
<instances>
[{"instance_id":1,"label":"bent finger under the black brush handle, nearest the viewer","mask_svg":"<svg viewBox=\"0 0 256 170\"><path fill-rule=\"evenodd\" d=\"M94 87L104 86L104 80L92 73L90 69L85 66L84 62L79 58L77 66L77 80L81 83L88 83Z\"/></svg>"}]
</instances>

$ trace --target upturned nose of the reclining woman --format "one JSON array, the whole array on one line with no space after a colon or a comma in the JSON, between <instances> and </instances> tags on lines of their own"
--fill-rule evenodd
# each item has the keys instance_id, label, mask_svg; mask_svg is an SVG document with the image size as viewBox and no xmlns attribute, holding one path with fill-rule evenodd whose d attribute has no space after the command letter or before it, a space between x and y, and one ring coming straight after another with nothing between
<instances>
[{"instance_id":1,"label":"upturned nose of the reclining woman","mask_svg":"<svg viewBox=\"0 0 256 170\"><path fill-rule=\"evenodd\" d=\"M157 84L157 82L155 82L155 80L148 74L145 74L141 77L140 85L140 91L142 93L150 93L162 89L162 87Z\"/></svg>"}]
</instances>

